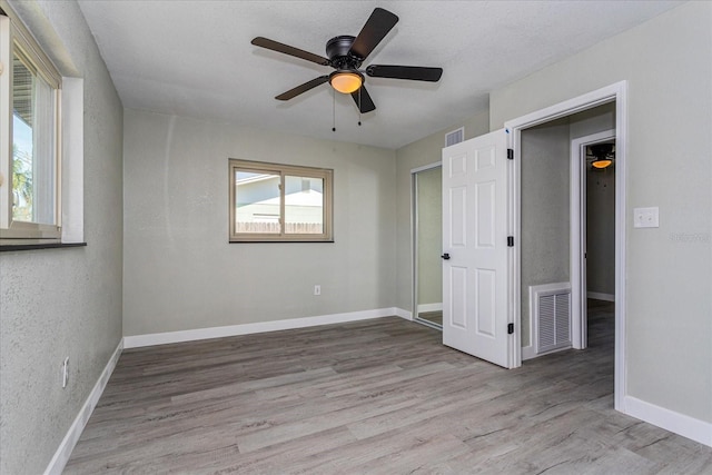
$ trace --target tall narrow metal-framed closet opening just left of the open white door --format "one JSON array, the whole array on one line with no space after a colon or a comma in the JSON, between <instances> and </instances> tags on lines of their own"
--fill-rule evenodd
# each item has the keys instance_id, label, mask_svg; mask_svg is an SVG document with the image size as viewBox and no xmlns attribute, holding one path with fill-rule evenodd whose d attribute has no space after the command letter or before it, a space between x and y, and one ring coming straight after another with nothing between
<instances>
[{"instance_id":1,"label":"tall narrow metal-framed closet opening just left of the open white door","mask_svg":"<svg viewBox=\"0 0 712 475\"><path fill-rule=\"evenodd\" d=\"M413 189L413 316L443 328L443 172L441 164L411 170Z\"/></svg>"}]
</instances>

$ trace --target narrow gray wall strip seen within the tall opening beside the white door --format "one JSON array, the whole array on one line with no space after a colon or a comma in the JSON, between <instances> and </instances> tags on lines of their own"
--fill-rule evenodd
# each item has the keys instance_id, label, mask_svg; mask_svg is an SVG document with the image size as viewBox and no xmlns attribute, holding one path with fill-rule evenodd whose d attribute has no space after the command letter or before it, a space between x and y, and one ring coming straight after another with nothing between
<instances>
[{"instance_id":1,"label":"narrow gray wall strip seen within the tall opening beside the white door","mask_svg":"<svg viewBox=\"0 0 712 475\"><path fill-rule=\"evenodd\" d=\"M443 169L417 174L418 305L443 303Z\"/></svg>"}]
</instances>

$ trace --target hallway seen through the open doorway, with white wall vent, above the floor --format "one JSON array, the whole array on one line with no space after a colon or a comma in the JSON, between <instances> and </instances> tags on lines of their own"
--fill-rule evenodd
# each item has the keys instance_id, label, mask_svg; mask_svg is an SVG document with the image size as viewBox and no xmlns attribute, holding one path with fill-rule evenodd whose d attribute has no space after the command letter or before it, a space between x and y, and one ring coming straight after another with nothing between
<instances>
[{"instance_id":1,"label":"hallway seen through the open doorway, with white wall vent, above the floor","mask_svg":"<svg viewBox=\"0 0 712 475\"><path fill-rule=\"evenodd\" d=\"M587 285L592 297L613 300L615 167L593 151L614 141L614 102L521 132L523 359L586 347Z\"/></svg>"}]
</instances>

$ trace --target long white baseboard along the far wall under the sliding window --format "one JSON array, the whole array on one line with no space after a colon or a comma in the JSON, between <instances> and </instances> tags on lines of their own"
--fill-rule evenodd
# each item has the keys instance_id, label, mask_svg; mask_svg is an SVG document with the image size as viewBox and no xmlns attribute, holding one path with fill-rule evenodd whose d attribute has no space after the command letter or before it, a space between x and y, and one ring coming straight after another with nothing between
<instances>
[{"instance_id":1,"label":"long white baseboard along the far wall under the sliding window","mask_svg":"<svg viewBox=\"0 0 712 475\"><path fill-rule=\"evenodd\" d=\"M288 330L293 328L314 327L317 325L342 324L346 321L367 320L370 318L400 316L397 308L377 308L374 310L348 311L345 314L319 315L316 317L288 318L285 320L259 321L255 324L228 325L224 327L196 328L132 335L123 337L123 348L140 348L144 346L167 345L171 343L195 342L227 336L250 335L265 331Z\"/></svg>"}]
</instances>

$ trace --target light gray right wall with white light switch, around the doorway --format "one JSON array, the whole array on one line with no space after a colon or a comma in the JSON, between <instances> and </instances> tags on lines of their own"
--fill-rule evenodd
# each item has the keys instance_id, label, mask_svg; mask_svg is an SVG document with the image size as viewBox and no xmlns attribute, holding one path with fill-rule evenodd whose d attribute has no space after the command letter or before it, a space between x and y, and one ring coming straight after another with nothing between
<instances>
[{"instance_id":1,"label":"light gray right wall with white light switch, around the doorway","mask_svg":"<svg viewBox=\"0 0 712 475\"><path fill-rule=\"evenodd\" d=\"M712 3L686 2L492 92L491 126L627 80L627 394L712 422ZM620 169L619 169L620 171ZM633 208L660 207L634 229Z\"/></svg>"}]
</instances>

